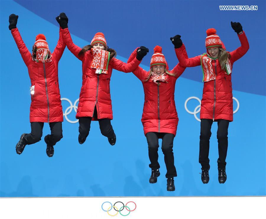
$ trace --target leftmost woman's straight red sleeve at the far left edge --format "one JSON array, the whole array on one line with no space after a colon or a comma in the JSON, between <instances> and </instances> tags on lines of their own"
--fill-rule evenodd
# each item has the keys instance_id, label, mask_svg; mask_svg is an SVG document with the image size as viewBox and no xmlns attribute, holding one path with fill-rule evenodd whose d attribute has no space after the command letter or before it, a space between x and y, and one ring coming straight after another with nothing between
<instances>
[{"instance_id":1,"label":"leftmost woman's straight red sleeve at the far left edge","mask_svg":"<svg viewBox=\"0 0 266 219\"><path fill-rule=\"evenodd\" d=\"M11 30L11 33L12 33L12 36L14 37L14 40L17 44L17 48L20 51L23 61L25 62L26 66L29 66L32 61L31 53L27 49L25 43L23 42L20 36L20 32L18 31L17 28L14 28Z\"/></svg>"}]
</instances>

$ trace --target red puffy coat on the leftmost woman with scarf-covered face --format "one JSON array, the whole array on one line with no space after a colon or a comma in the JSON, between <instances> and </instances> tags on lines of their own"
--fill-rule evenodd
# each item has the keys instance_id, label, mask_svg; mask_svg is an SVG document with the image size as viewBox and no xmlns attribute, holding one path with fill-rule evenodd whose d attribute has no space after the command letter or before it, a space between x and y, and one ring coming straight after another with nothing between
<instances>
[{"instance_id":1,"label":"red puffy coat on the leftmost woman with scarf-covered face","mask_svg":"<svg viewBox=\"0 0 266 219\"><path fill-rule=\"evenodd\" d=\"M62 122L63 111L61 106L59 83L58 83L58 62L64 52L66 44L61 37L56 48L51 54L52 61L33 61L30 51L25 46L17 28L11 33L25 62L31 81L34 87L34 95L31 95L30 122Z\"/></svg>"}]
</instances>

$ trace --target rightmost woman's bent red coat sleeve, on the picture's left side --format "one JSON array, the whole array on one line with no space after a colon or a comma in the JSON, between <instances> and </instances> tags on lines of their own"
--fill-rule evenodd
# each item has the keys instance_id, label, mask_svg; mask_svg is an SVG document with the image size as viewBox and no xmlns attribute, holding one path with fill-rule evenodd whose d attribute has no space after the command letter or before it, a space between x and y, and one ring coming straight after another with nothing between
<instances>
[{"instance_id":1,"label":"rightmost woman's bent red coat sleeve, on the picture's left side","mask_svg":"<svg viewBox=\"0 0 266 219\"><path fill-rule=\"evenodd\" d=\"M184 50L186 50L184 44L180 48L175 49L176 57L181 66L195 67L195 66L200 65L200 56L195 56L194 58L187 58L184 55Z\"/></svg>"}]
</instances>

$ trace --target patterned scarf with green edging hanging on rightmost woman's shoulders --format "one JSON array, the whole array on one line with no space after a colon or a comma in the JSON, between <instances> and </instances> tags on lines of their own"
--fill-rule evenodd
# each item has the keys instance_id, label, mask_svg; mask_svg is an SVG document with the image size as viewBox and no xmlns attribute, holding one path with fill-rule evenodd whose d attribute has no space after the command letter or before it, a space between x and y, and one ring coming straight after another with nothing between
<instances>
[{"instance_id":1,"label":"patterned scarf with green edging hanging on rightmost woman's shoulders","mask_svg":"<svg viewBox=\"0 0 266 219\"><path fill-rule=\"evenodd\" d=\"M216 80L216 74L213 72L212 60L213 59L210 56L208 56L207 53L202 54L202 56L200 57L200 64L203 73L202 82ZM226 71L224 71L224 73L225 74L232 73L232 65L229 59L226 62Z\"/></svg>"}]
</instances>

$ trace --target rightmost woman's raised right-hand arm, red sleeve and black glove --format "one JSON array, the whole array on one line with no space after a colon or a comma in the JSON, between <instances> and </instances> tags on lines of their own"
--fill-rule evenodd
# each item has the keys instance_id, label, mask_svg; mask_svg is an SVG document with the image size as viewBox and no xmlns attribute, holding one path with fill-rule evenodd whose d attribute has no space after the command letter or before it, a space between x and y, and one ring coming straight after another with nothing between
<instances>
[{"instance_id":1,"label":"rightmost woman's raised right-hand arm, red sleeve and black glove","mask_svg":"<svg viewBox=\"0 0 266 219\"><path fill-rule=\"evenodd\" d=\"M233 30L237 33L237 36L240 40L241 46L237 48L236 50L230 52L231 55L231 61L235 62L236 60L240 59L242 56L246 54L246 52L249 50L249 42L246 38L245 32L242 30L241 24L238 22L231 22L231 26Z\"/></svg>"}]
</instances>

